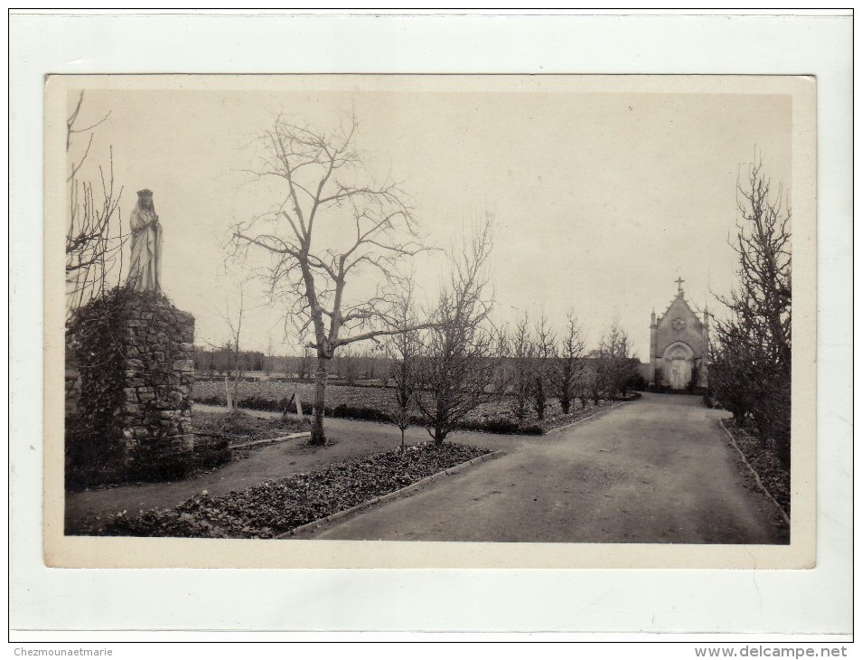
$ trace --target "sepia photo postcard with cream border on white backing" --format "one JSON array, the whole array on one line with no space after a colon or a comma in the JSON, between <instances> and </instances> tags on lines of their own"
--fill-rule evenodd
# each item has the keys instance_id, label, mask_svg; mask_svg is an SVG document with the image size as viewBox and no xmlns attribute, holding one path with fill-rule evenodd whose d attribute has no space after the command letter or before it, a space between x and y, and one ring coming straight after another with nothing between
<instances>
[{"instance_id":1,"label":"sepia photo postcard with cream border on white backing","mask_svg":"<svg viewBox=\"0 0 862 660\"><path fill-rule=\"evenodd\" d=\"M49 76L46 564L812 567L815 136L810 77Z\"/></svg>"}]
</instances>

